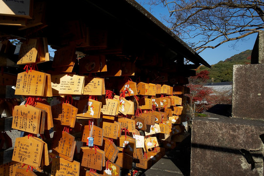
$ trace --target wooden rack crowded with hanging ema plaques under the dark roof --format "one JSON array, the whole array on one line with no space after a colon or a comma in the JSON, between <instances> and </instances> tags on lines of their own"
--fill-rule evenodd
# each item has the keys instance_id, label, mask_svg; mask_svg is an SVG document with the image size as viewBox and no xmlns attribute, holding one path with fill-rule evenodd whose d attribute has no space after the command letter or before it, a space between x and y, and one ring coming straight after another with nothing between
<instances>
[{"instance_id":1,"label":"wooden rack crowded with hanging ema plaques under the dark roof","mask_svg":"<svg viewBox=\"0 0 264 176\"><path fill-rule=\"evenodd\" d=\"M27 15L0 11L0 24L19 25L21 31L45 27L44 13L30 19L37 9L44 11L38 3L21 7ZM107 30L79 21L65 26L72 25L82 27L66 32L80 35L59 41L63 46L54 47L52 61L42 36L19 39L18 54L9 40L0 43L0 104L7 116L0 126L21 132L13 146L8 140L0 143L12 148L12 160L0 163L3 175L121 176L121 171L149 169L188 135L182 125L188 121L186 77L174 76L176 83L170 83L168 72L149 66L150 58L151 64L160 62L156 53L146 59L102 52L109 44ZM62 30L57 37L65 36ZM2 136L7 135L4 131Z\"/></svg>"}]
</instances>

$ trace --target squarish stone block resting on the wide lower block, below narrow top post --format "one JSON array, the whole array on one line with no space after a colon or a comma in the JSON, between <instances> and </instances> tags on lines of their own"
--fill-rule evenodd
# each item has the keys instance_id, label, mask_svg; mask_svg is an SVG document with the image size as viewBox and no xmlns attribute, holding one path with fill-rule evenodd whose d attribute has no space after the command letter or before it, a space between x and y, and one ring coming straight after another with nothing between
<instances>
[{"instance_id":1,"label":"squarish stone block resting on the wide lower block, below narrow top post","mask_svg":"<svg viewBox=\"0 0 264 176\"><path fill-rule=\"evenodd\" d=\"M264 64L233 66L232 117L264 120Z\"/></svg>"}]
</instances>

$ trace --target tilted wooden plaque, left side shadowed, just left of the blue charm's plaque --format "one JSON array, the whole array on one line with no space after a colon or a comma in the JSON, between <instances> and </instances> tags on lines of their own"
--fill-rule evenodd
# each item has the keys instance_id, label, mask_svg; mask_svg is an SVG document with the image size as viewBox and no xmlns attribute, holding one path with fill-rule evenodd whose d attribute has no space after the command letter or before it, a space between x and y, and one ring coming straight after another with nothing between
<instances>
[{"instance_id":1,"label":"tilted wooden plaque, left side shadowed, just left of the blue charm's plaque","mask_svg":"<svg viewBox=\"0 0 264 176\"><path fill-rule=\"evenodd\" d=\"M54 132L52 150L67 157L73 156L75 137L67 132ZM65 158L68 159L68 158Z\"/></svg>"}]
</instances>

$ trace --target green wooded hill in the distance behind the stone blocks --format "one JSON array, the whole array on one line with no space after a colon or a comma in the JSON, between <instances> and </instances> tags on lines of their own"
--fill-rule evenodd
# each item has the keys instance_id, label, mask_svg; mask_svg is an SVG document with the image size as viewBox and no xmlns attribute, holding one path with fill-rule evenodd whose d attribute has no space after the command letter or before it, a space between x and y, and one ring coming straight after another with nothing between
<instances>
[{"instance_id":1,"label":"green wooded hill in the distance behind the stone blocks","mask_svg":"<svg viewBox=\"0 0 264 176\"><path fill-rule=\"evenodd\" d=\"M233 76L233 65L250 64L252 50L248 49L239 54L236 54L224 61L212 65L212 69L205 66L199 66L197 72L201 70L208 70L210 80L209 82L230 82Z\"/></svg>"}]
</instances>

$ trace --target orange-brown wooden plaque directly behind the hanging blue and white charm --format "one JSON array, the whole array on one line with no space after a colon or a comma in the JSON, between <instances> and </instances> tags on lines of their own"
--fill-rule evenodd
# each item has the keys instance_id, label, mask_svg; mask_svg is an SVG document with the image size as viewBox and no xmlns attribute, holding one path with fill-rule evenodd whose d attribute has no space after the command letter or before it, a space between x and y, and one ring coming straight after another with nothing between
<instances>
[{"instance_id":1,"label":"orange-brown wooden plaque directly behind the hanging blue and white charm","mask_svg":"<svg viewBox=\"0 0 264 176\"><path fill-rule=\"evenodd\" d=\"M91 125L90 125L90 127L91 127ZM103 145L103 134L104 134L104 130L102 128L93 125L92 137L93 137L93 144L94 145L97 145L97 146ZM88 137L90 137L90 128L89 128L89 125L85 125L83 137L82 137L82 142L87 143Z\"/></svg>"}]
</instances>

